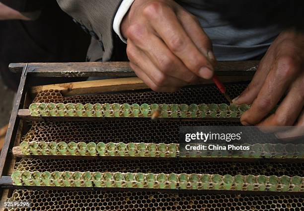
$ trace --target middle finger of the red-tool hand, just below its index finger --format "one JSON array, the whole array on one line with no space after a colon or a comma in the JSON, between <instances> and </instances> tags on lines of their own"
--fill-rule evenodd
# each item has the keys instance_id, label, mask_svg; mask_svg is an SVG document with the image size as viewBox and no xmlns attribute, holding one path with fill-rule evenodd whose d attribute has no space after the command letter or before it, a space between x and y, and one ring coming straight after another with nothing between
<instances>
[{"instance_id":1,"label":"middle finger of the red-tool hand, just below its index finger","mask_svg":"<svg viewBox=\"0 0 304 211\"><path fill-rule=\"evenodd\" d=\"M154 34L150 35L149 38L146 37L146 39L136 40L134 44L144 51L158 70L165 75L172 76L187 83L198 81L198 77Z\"/></svg>"}]
</instances>

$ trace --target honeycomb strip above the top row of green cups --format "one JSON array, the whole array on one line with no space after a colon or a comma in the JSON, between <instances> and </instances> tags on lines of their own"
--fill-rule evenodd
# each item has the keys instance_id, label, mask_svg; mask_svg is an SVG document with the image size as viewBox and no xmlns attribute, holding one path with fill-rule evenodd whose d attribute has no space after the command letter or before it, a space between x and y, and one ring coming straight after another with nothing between
<instances>
[{"instance_id":1,"label":"honeycomb strip above the top row of green cups","mask_svg":"<svg viewBox=\"0 0 304 211\"><path fill-rule=\"evenodd\" d=\"M247 87L244 84L226 86L231 98L237 97ZM64 97L58 90L45 90L37 94L33 103L63 104L222 104L229 103L217 87L208 85L199 88L184 88L175 93L134 92L120 94L103 94L94 96Z\"/></svg>"}]
</instances>

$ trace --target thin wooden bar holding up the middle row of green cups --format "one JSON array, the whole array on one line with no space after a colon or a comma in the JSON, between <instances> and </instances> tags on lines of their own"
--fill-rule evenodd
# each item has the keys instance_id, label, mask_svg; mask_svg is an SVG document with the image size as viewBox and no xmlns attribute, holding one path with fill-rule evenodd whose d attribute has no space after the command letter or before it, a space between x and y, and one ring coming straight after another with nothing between
<instances>
[{"instance_id":1,"label":"thin wooden bar holding up the middle row of green cups","mask_svg":"<svg viewBox=\"0 0 304 211\"><path fill-rule=\"evenodd\" d=\"M235 157L137 157L137 156L81 156L81 155L23 155L20 147L12 149L15 157L55 160L188 160L188 161L227 161L227 162L268 162L268 163L304 163L303 158L235 158Z\"/></svg>"}]
</instances>

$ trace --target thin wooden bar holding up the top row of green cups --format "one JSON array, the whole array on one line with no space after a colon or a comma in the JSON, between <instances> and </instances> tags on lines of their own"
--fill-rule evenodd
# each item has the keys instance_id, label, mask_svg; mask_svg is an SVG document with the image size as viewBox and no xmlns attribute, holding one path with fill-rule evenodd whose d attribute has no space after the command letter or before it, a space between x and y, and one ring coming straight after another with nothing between
<instances>
[{"instance_id":1,"label":"thin wooden bar holding up the top row of green cups","mask_svg":"<svg viewBox=\"0 0 304 211\"><path fill-rule=\"evenodd\" d=\"M149 119L150 117L87 117L87 116L31 116L29 109L19 109L18 117L30 121L103 121L121 119ZM157 118L157 121L234 121L239 122L237 117L204 117L204 118Z\"/></svg>"}]
</instances>

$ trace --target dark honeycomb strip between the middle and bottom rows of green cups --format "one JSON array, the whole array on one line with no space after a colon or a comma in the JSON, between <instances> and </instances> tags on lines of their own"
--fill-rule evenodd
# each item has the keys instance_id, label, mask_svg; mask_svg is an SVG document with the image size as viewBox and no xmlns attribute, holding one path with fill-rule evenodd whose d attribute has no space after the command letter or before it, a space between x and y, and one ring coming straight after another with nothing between
<instances>
[{"instance_id":1,"label":"dark honeycomb strip between the middle and bottom rows of green cups","mask_svg":"<svg viewBox=\"0 0 304 211\"><path fill-rule=\"evenodd\" d=\"M264 162L201 162L187 160L51 160L26 159L16 162L18 171L80 171L164 174L220 174L220 175L265 175L304 176L304 163Z\"/></svg>"}]
</instances>

